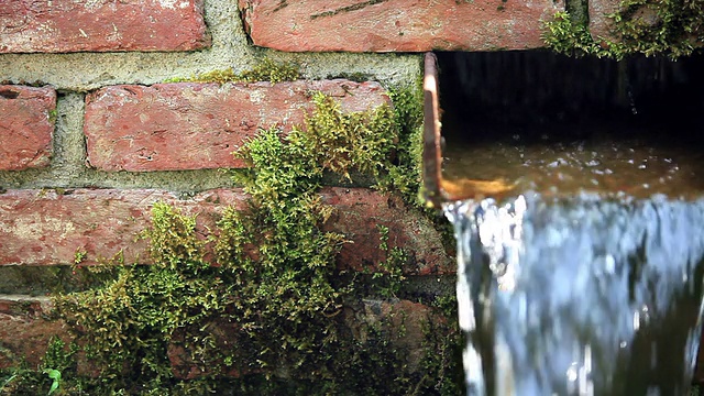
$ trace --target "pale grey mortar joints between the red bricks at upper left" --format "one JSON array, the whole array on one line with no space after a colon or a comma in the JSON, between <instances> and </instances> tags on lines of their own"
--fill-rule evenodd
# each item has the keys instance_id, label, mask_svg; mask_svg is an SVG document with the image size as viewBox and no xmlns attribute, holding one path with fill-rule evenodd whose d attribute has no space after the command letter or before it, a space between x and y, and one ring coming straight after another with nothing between
<instances>
[{"instance_id":1,"label":"pale grey mortar joints between the red bricks at upper left","mask_svg":"<svg viewBox=\"0 0 704 396\"><path fill-rule=\"evenodd\" d=\"M248 43L234 0L206 0L205 19L212 36L212 46L205 51L0 55L0 81L38 82L59 91L51 166L0 172L0 191L2 188L77 187L200 191L232 186L230 176L218 169L129 173L88 168L81 92L100 87L151 85L230 67L240 73L263 57L294 62L307 79L362 75L391 87L415 81L421 74L417 54L288 54L254 47Z\"/></svg>"}]
</instances>

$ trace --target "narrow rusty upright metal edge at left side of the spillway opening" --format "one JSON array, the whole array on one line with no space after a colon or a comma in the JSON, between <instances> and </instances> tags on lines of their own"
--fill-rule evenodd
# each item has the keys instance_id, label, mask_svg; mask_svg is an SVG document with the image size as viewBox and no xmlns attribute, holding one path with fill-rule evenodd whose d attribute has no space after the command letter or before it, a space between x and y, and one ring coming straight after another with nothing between
<instances>
[{"instance_id":1,"label":"narrow rusty upright metal edge at left side of the spillway opening","mask_svg":"<svg viewBox=\"0 0 704 396\"><path fill-rule=\"evenodd\" d=\"M442 153L440 148L440 105L438 99L438 58L431 52L425 54L424 74L424 198L428 206L441 208Z\"/></svg>"}]
</instances>

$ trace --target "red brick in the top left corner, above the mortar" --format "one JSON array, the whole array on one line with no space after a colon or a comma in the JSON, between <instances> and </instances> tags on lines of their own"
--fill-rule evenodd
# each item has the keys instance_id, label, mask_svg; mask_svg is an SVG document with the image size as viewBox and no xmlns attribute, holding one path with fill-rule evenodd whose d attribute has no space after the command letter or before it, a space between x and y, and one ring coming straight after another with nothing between
<instances>
[{"instance_id":1,"label":"red brick in the top left corner, above the mortar","mask_svg":"<svg viewBox=\"0 0 704 396\"><path fill-rule=\"evenodd\" d=\"M3 0L0 26L0 53L193 51L210 45L202 0Z\"/></svg>"}]
</instances>

